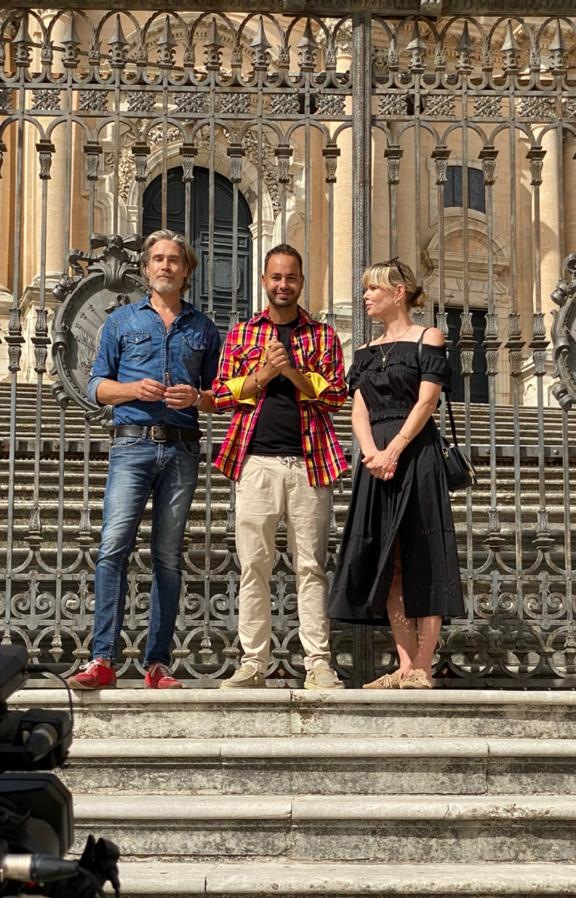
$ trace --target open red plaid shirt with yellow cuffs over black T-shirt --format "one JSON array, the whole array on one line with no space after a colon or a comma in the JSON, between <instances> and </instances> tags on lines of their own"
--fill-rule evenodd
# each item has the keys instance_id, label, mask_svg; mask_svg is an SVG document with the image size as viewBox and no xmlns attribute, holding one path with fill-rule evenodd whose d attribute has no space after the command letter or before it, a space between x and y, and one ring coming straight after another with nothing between
<instances>
[{"instance_id":1,"label":"open red plaid shirt with yellow cuffs over black T-shirt","mask_svg":"<svg viewBox=\"0 0 576 898\"><path fill-rule=\"evenodd\" d=\"M298 324L291 333L295 366L310 377L316 397L296 392L302 427L302 454L311 486L328 486L348 467L330 417L346 401L342 347L333 328L311 318L298 306ZM240 400L245 378L263 364L271 338L278 339L268 309L232 328L220 355L213 384L214 403L220 412L232 409L230 427L216 459L226 477L237 480L242 470L254 427L266 399Z\"/></svg>"}]
</instances>

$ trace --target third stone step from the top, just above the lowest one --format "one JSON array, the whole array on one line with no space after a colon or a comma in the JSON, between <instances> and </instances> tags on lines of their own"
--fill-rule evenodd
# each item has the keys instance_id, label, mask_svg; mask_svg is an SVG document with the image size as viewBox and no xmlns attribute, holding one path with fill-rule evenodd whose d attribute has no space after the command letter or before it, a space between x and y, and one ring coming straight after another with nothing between
<instances>
[{"instance_id":1,"label":"third stone step from the top, just above the lowest one","mask_svg":"<svg viewBox=\"0 0 576 898\"><path fill-rule=\"evenodd\" d=\"M124 858L574 863L576 798L563 795L76 795L76 842Z\"/></svg>"}]
</instances>

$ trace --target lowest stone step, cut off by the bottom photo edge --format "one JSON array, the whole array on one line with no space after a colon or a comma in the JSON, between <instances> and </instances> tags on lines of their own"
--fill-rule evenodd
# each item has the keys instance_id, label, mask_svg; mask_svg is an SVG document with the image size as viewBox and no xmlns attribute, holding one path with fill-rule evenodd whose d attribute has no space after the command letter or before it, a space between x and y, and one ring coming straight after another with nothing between
<instances>
[{"instance_id":1,"label":"lowest stone step, cut off by the bottom photo edge","mask_svg":"<svg viewBox=\"0 0 576 898\"><path fill-rule=\"evenodd\" d=\"M573 864L122 863L123 898L542 898L576 894Z\"/></svg>"}]
</instances>

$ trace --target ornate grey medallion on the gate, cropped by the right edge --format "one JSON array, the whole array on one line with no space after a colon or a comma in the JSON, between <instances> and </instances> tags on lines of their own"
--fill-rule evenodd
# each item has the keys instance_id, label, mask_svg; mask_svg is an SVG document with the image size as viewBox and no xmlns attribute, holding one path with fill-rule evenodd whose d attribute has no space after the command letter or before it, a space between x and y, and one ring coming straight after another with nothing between
<instances>
[{"instance_id":1,"label":"ornate grey medallion on the gate, cropped by the right edge","mask_svg":"<svg viewBox=\"0 0 576 898\"><path fill-rule=\"evenodd\" d=\"M576 402L576 253L566 257L564 268L569 272L568 278L559 281L551 294L559 306L554 312L552 343L556 376L560 381L552 393L564 411L568 411Z\"/></svg>"}]
</instances>

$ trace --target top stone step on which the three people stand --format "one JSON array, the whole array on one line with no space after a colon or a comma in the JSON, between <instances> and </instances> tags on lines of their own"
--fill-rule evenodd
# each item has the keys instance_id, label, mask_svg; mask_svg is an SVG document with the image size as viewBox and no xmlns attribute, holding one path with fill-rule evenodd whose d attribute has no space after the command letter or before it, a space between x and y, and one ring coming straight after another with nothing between
<instances>
[{"instance_id":1,"label":"top stone step on which the three people stand","mask_svg":"<svg viewBox=\"0 0 576 898\"><path fill-rule=\"evenodd\" d=\"M47 680L42 682L48 683ZM34 685L34 684L31 684ZM568 681L566 686L576 683ZM240 693L240 694L238 694ZM17 707L61 708L63 690L27 688ZM118 688L73 696L77 739L354 736L387 739L576 739L576 692Z\"/></svg>"}]
</instances>

